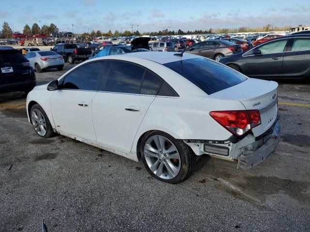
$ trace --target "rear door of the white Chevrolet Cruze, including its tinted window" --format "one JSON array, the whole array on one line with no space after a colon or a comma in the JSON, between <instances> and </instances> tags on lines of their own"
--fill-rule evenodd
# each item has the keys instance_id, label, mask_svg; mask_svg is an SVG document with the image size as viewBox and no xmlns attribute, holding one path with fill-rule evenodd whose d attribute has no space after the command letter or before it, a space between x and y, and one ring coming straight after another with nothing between
<instances>
[{"instance_id":1,"label":"rear door of the white Chevrolet Cruze, including its tinted window","mask_svg":"<svg viewBox=\"0 0 310 232\"><path fill-rule=\"evenodd\" d=\"M96 141L127 154L162 79L130 62L113 60L109 66L93 99Z\"/></svg>"}]
</instances>

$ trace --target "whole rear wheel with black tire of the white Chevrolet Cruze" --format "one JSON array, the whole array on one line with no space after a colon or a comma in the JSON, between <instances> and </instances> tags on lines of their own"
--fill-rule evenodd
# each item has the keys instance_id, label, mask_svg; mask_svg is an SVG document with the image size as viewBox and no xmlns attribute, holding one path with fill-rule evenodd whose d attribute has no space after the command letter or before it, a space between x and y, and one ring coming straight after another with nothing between
<instances>
[{"instance_id":1,"label":"whole rear wheel with black tire of the white Chevrolet Cruze","mask_svg":"<svg viewBox=\"0 0 310 232\"><path fill-rule=\"evenodd\" d=\"M149 174L171 184L185 180L192 173L196 162L196 155L182 140L161 131L145 134L140 152Z\"/></svg>"}]
</instances>

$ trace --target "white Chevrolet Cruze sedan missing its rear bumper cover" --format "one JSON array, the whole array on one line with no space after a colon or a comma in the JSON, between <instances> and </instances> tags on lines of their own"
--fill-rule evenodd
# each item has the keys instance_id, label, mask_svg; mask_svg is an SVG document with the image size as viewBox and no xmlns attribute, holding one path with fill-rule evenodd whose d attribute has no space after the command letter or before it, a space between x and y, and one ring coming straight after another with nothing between
<instances>
[{"instance_id":1,"label":"white Chevrolet Cruze sedan missing its rear bumper cover","mask_svg":"<svg viewBox=\"0 0 310 232\"><path fill-rule=\"evenodd\" d=\"M200 56L128 53L34 87L27 114L41 137L141 160L155 178L179 183L203 154L245 169L266 159L279 142L277 87Z\"/></svg>"}]
</instances>

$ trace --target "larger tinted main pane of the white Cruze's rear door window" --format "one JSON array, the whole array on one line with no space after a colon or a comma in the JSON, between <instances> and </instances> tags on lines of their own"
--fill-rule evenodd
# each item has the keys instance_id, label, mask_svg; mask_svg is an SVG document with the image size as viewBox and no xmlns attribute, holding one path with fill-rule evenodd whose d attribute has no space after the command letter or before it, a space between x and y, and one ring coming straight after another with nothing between
<instances>
[{"instance_id":1,"label":"larger tinted main pane of the white Cruze's rear door window","mask_svg":"<svg viewBox=\"0 0 310 232\"><path fill-rule=\"evenodd\" d=\"M126 62L112 61L105 91L140 93L144 69Z\"/></svg>"}]
</instances>

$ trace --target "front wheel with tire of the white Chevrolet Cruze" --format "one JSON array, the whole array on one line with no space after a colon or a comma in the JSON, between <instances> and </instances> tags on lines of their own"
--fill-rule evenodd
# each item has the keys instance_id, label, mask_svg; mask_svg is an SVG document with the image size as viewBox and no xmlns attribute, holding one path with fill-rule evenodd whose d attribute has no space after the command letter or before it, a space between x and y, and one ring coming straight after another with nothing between
<instances>
[{"instance_id":1,"label":"front wheel with tire of the white Chevrolet Cruze","mask_svg":"<svg viewBox=\"0 0 310 232\"><path fill-rule=\"evenodd\" d=\"M31 124L37 135L50 138L55 135L47 114L39 104L34 104L30 110Z\"/></svg>"}]
</instances>

